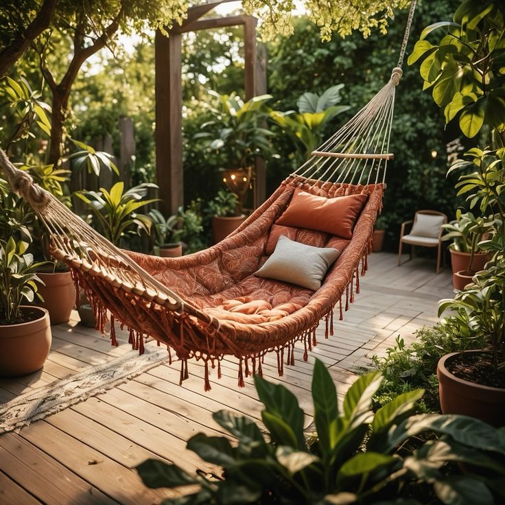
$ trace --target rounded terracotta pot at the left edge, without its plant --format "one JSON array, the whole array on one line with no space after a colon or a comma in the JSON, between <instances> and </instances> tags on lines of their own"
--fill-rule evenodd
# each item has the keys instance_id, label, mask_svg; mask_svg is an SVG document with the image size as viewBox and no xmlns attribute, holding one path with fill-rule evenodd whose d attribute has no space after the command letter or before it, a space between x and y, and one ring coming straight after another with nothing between
<instances>
[{"instance_id":1,"label":"rounded terracotta pot at the left edge, without its plant","mask_svg":"<svg viewBox=\"0 0 505 505\"><path fill-rule=\"evenodd\" d=\"M0 325L0 377L27 375L44 366L51 349L51 323L42 307L21 307L34 319L17 325Z\"/></svg>"}]
</instances>

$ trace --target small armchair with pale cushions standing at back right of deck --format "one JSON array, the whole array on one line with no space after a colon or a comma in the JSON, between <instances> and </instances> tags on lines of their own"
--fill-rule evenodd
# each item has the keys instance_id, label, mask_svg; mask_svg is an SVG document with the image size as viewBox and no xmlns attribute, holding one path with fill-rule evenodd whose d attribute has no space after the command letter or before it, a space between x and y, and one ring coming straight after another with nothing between
<instances>
[{"instance_id":1,"label":"small armchair with pale cushions standing at back right of deck","mask_svg":"<svg viewBox=\"0 0 505 505\"><path fill-rule=\"evenodd\" d=\"M410 259L415 246L436 247L436 273L440 272L442 255L442 225L447 223L447 215L438 211L417 211L414 219L401 224L400 244L398 248L398 266L401 265L401 248L403 244L409 244ZM410 233L406 234L406 227L412 224Z\"/></svg>"}]
</instances>

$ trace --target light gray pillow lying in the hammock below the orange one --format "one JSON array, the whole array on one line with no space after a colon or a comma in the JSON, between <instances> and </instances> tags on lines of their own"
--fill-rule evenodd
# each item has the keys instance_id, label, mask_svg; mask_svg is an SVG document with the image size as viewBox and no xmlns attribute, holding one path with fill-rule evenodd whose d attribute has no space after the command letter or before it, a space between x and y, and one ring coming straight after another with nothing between
<instances>
[{"instance_id":1,"label":"light gray pillow lying in the hammock below the orange one","mask_svg":"<svg viewBox=\"0 0 505 505\"><path fill-rule=\"evenodd\" d=\"M257 277L290 282L309 290L318 290L329 267L340 256L333 247L314 247L279 237L274 253L255 273Z\"/></svg>"}]
</instances>

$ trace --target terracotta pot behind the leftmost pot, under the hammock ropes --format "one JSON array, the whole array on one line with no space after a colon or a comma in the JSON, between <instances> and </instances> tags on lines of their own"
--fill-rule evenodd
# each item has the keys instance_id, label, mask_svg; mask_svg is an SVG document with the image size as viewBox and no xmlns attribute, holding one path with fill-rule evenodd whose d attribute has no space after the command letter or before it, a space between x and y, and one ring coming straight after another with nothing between
<instances>
[{"instance_id":1,"label":"terracotta pot behind the leftmost pot, under the hammock ropes","mask_svg":"<svg viewBox=\"0 0 505 505\"><path fill-rule=\"evenodd\" d=\"M38 285L38 292L43 296L44 301L36 305L49 311L51 325L67 322L75 305L75 286L70 272L37 275L45 285Z\"/></svg>"}]
</instances>

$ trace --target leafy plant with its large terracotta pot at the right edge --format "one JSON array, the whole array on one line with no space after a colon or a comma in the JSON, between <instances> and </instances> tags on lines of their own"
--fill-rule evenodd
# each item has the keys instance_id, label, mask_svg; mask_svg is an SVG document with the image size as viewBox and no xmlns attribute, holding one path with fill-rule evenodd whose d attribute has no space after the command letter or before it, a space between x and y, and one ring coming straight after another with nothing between
<instances>
[{"instance_id":1,"label":"leafy plant with its large terracotta pot at the right edge","mask_svg":"<svg viewBox=\"0 0 505 505\"><path fill-rule=\"evenodd\" d=\"M439 315L452 309L460 325L475 331L482 349L451 353L438 362L442 412L467 414L505 425L505 263L498 258L475 274L454 300L442 300Z\"/></svg>"}]
</instances>

